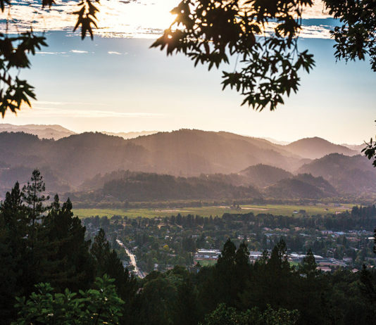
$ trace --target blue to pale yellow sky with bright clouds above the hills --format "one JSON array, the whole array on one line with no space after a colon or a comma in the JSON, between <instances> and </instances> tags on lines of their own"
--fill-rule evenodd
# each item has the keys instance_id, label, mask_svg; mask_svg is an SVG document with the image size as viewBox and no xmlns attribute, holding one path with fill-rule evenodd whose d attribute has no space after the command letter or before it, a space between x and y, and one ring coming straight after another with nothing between
<instances>
[{"instance_id":1,"label":"blue to pale yellow sky with bright clouds above the hills","mask_svg":"<svg viewBox=\"0 0 376 325\"><path fill-rule=\"evenodd\" d=\"M102 1L94 40L72 32L75 1L49 12L38 1L22 1L4 13L8 31L32 24L46 32L48 47L21 72L37 93L32 109L6 113L0 123L58 124L75 132L171 131L180 128L228 131L280 141L320 136L338 144L361 144L375 132L376 74L365 62L336 62L329 30L335 23L316 3L304 14L299 49L316 67L301 74L298 94L276 111L241 106L236 91L222 91L221 70L194 68L189 58L149 49L173 21L176 0ZM15 23L14 23L15 22ZM13 29L13 30L11 30ZM230 63L233 69L234 60Z\"/></svg>"}]
</instances>

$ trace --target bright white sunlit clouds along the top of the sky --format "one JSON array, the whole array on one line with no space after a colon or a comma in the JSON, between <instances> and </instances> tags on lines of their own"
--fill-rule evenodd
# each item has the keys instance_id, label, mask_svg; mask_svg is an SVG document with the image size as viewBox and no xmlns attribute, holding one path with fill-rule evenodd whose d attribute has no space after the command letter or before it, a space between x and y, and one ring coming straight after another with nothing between
<instances>
[{"instance_id":1,"label":"bright white sunlit clouds along the top of the sky","mask_svg":"<svg viewBox=\"0 0 376 325\"><path fill-rule=\"evenodd\" d=\"M30 30L30 27L35 31L72 31L77 17L71 13L77 11L77 2L75 0L58 1L58 5L52 6L50 10L42 9L40 1L37 0L30 0L27 6L15 2L10 9L12 21L8 24L11 29L9 32ZM156 38L173 22L174 17L170 14L170 10L176 6L177 2L177 0L104 1L99 5L99 28L94 32L103 37ZM320 0L316 0L311 8L305 8L303 11L303 18L307 20L329 17ZM314 22L312 26L316 26ZM1 20L0 30L5 29L6 20ZM303 37L327 38L327 30L325 27L306 26L303 27ZM73 50L71 53L86 52ZM117 54L116 51L108 53Z\"/></svg>"}]
</instances>

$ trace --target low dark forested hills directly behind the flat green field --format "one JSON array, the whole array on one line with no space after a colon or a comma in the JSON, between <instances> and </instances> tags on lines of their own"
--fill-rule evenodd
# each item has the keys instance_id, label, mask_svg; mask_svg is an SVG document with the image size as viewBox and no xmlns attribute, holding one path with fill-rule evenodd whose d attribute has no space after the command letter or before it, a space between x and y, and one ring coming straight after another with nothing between
<instances>
[{"instance_id":1,"label":"low dark forested hills directly behind the flat green field","mask_svg":"<svg viewBox=\"0 0 376 325\"><path fill-rule=\"evenodd\" d=\"M238 178L237 178L238 177ZM81 203L145 202L153 200L241 200L261 202L265 198L320 199L334 198L337 191L322 177L299 174L282 179L264 189L256 189L250 183L234 185L236 181L246 184L237 174L201 174L200 177L174 177L167 174L118 171L97 175L85 184L92 191L80 191L70 195Z\"/></svg>"}]
</instances>

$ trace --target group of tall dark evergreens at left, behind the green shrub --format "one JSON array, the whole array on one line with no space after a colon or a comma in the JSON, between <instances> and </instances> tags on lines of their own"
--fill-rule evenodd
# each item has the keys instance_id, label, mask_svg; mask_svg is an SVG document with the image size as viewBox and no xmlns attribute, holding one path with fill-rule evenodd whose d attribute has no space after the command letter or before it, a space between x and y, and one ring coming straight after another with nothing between
<instances>
[{"instance_id":1,"label":"group of tall dark evergreens at left, behind the green shrub","mask_svg":"<svg viewBox=\"0 0 376 325\"><path fill-rule=\"evenodd\" d=\"M20 189L16 183L0 205L1 324L15 319L15 297L29 297L37 283L49 283L55 292L78 292L108 274L120 298L128 299L136 290L134 277L123 268L104 232L90 243L70 200L61 204L56 195L54 203L46 205L43 192L43 178L35 170L27 186Z\"/></svg>"}]
</instances>

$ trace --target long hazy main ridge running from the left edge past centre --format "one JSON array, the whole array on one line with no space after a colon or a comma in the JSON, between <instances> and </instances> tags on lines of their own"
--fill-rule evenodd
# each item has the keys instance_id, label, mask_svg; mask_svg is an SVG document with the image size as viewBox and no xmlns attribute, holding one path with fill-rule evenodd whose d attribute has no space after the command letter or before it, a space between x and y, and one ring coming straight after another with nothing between
<instances>
[{"instance_id":1,"label":"long hazy main ridge running from the left edge past centre","mask_svg":"<svg viewBox=\"0 0 376 325\"><path fill-rule=\"evenodd\" d=\"M239 172L258 163L292 170L306 162L262 139L196 130L158 133L130 140L84 133L58 141L5 132L0 134L0 150L4 153L1 160L11 168L39 167L43 172L48 166L71 186L113 170L190 177L201 173Z\"/></svg>"}]
</instances>

